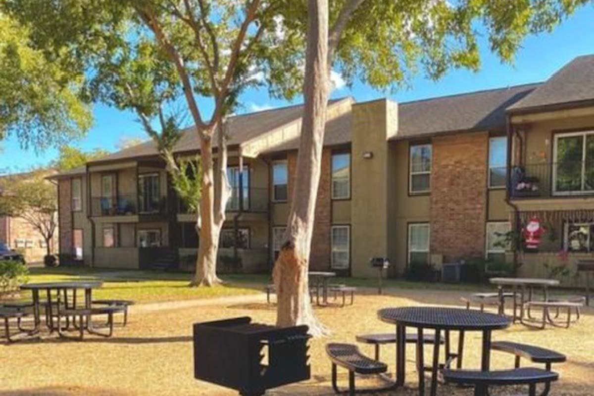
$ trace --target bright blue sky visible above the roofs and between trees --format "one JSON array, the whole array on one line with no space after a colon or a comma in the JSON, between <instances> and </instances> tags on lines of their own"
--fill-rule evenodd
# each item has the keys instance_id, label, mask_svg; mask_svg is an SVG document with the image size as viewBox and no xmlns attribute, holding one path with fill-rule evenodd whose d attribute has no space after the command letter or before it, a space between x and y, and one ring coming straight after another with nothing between
<instances>
[{"instance_id":1,"label":"bright blue sky visible above the roofs and between trees","mask_svg":"<svg viewBox=\"0 0 594 396\"><path fill-rule=\"evenodd\" d=\"M507 85L544 81L557 69L579 55L594 53L594 5L582 8L569 20L550 34L530 36L523 43L513 65L501 64L497 56L492 55L485 40L481 42L482 66L479 72L453 70L440 81L427 80L418 75L412 81L412 88L394 94L374 90L359 82L352 88L343 86L333 91L333 97L353 96L358 102L391 97L397 102L425 99L434 96L463 93ZM248 90L242 97L242 109L249 112L288 104L281 100L270 99L265 88ZM299 102L296 101L296 102ZM210 107L210 106L209 106ZM94 125L82 140L73 142L83 150L96 147L116 150L119 141L126 138L145 138L144 132L131 112L120 112L105 106L95 106ZM55 149L35 154L32 150L22 150L18 141L8 139L1 144L0 173L19 172L31 166L48 163L58 155Z\"/></svg>"}]
</instances>

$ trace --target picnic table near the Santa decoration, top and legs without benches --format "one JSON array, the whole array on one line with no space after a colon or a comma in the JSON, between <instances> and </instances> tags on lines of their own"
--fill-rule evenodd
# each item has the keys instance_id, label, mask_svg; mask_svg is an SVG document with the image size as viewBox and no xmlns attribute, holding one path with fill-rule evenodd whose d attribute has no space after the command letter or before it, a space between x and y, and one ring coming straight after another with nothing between
<instances>
[{"instance_id":1,"label":"picnic table near the Santa decoration, top and legs without benches","mask_svg":"<svg viewBox=\"0 0 594 396\"><path fill-rule=\"evenodd\" d=\"M544 296L544 301L548 300L548 288L551 286L558 286L560 282L556 279L544 279L544 278L491 278L489 282L492 284L497 285L497 290L499 294L499 313L501 315L504 314L504 292L505 287L511 287L511 290L514 293L514 311L513 311L513 322L516 321L522 322L524 318L524 303L526 301L532 301L534 295L534 289L539 287L542 289L542 294ZM517 311L517 303L516 303L516 292L517 289L520 288L520 315L516 314ZM526 291L527 291L527 300L526 300ZM530 317L530 311L527 312L527 316Z\"/></svg>"}]
</instances>

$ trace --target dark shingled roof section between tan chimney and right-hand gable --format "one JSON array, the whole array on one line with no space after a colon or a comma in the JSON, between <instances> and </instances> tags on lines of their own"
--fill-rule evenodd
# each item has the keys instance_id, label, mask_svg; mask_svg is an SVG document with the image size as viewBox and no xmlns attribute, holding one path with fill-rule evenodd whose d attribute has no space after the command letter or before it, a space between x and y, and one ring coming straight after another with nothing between
<instances>
[{"instance_id":1,"label":"dark shingled roof section between tan chimney and right-hand gable","mask_svg":"<svg viewBox=\"0 0 594 396\"><path fill-rule=\"evenodd\" d=\"M515 85L399 103L398 132L391 140L447 132L502 130L505 128L505 109L539 85Z\"/></svg>"}]
</instances>

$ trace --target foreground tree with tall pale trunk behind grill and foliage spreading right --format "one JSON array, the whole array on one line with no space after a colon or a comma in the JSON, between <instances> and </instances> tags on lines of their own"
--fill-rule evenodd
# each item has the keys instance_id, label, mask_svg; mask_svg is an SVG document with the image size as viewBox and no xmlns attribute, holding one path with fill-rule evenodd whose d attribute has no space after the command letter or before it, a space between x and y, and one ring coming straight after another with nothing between
<instances>
[{"instance_id":1,"label":"foreground tree with tall pale trunk behind grill and foliage spreading right","mask_svg":"<svg viewBox=\"0 0 594 396\"><path fill-rule=\"evenodd\" d=\"M299 2L290 7L285 15L291 25L307 30L307 53L295 186L273 271L277 325L307 324L314 335L324 332L309 304L307 272L331 66L340 66L348 81L357 75L380 88L406 84L419 65L434 80L450 68L477 70L478 23L491 50L511 62L527 34L551 30L586 2L336 0L329 6L328 0L308 0L307 10Z\"/></svg>"}]
</instances>

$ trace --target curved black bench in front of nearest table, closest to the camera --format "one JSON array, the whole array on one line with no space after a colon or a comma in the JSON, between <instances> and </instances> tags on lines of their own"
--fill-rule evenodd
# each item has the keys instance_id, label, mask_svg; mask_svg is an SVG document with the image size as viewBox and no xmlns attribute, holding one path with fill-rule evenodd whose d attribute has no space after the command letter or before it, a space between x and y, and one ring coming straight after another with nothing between
<instances>
[{"instance_id":1,"label":"curved black bench in front of nearest table, closest to the camera","mask_svg":"<svg viewBox=\"0 0 594 396\"><path fill-rule=\"evenodd\" d=\"M444 370L444 380L453 384L473 385L475 395L485 395L489 386L528 385L528 395L536 396L536 385L545 384L542 396L548 395L550 384L559 375L552 371L525 367L511 370L477 371Z\"/></svg>"}]
</instances>

